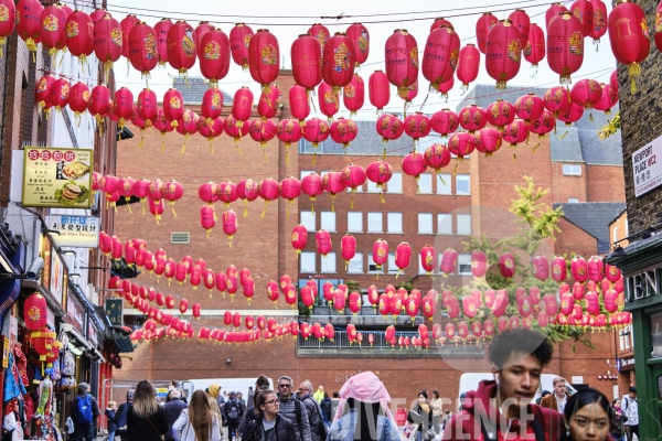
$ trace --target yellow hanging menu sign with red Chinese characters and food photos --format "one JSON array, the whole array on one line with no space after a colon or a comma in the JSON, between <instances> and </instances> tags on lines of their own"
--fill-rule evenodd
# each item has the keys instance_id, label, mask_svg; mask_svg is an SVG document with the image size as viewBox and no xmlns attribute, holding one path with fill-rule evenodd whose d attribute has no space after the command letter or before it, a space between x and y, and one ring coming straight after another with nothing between
<instances>
[{"instance_id":1,"label":"yellow hanging menu sign with red Chinese characters and food photos","mask_svg":"<svg viewBox=\"0 0 662 441\"><path fill-rule=\"evenodd\" d=\"M93 151L25 148L23 205L89 208Z\"/></svg>"}]
</instances>

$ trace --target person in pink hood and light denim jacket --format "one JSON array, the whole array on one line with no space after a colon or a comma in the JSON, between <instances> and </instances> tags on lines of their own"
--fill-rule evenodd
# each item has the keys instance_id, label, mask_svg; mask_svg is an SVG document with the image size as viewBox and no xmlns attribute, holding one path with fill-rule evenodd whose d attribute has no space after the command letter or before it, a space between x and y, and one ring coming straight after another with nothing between
<instances>
[{"instance_id":1,"label":"person in pink hood and light denim jacket","mask_svg":"<svg viewBox=\"0 0 662 441\"><path fill-rule=\"evenodd\" d=\"M391 396L375 374L354 375L340 389L327 441L399 441L389 404Z\"/></svg>"}]
</instances>

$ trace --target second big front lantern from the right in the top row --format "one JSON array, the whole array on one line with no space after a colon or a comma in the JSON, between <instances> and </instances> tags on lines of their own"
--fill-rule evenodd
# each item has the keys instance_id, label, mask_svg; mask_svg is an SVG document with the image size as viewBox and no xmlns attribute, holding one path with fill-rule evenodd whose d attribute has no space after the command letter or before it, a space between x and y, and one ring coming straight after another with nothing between
<instances>
[{"instance_id":1,"label":"second big front lantern from the right in the top row","mask_svg":"<svg viewBox=\"0 0 662 441\"><path fill-rule=\"evenodd\" d=\"M570 75L581 67L583 25L570 12L559 13L547 26L547 62L559 75L560 84L572 83Z\"/></svg>"}]
</instances>

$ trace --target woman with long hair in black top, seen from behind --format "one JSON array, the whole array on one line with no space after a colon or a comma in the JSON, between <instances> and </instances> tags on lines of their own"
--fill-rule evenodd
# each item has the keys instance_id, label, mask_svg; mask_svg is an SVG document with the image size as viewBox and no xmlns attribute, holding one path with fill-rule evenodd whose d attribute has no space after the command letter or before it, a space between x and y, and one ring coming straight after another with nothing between
<instances>
[{"instance_id":1,"label":"woman with long hair in black top, seen from behind","mask_svg":"<svg viewBox=\"0 0 662 441\"><path fill-rule=\"evenodd\" d=\"M129 441L161 441L168 431L166 410L157 401L153 386L143 379L136 386L134 405L127 412Z\"/></svg>"}]
</instances>

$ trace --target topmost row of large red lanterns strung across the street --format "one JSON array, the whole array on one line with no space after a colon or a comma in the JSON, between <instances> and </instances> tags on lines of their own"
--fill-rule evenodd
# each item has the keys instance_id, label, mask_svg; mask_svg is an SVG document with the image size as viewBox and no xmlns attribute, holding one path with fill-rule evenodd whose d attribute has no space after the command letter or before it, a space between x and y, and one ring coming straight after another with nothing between
<instances>
[{"instance_id":1,"label":"topmost row of large red lanterns strung across the street","mask_svg":"<svg viewBox=\"0 0 662 441\"><path fill-rule=\"evenodd\" d=\"M2 3L8 17L18 18L19 35L33 53L38 42L52 54L68 50L82 64L94 53L106 72L124 56L143 76L149 76L157 65L167 63L185 76L199 62L211 87L216 87L227 75L232 57L235 64L249 71L253 80L267 94L278 78L281 52L277 37L266 29L254 32L248 25L237 23L226 35L207 22L201 22L194 29L185 21L172 23L162 19L152 28L135 15L118 22L103 9L88 15L82 11L72 12L60 3L44 8L38 0L20 0L15 7L8 0ZM637 25L621 30L620 23L626 21ZM13 31L14 21L7 20L6 23L0 26L0 37ZM476 24L477 45L467 44L460 49L460 37L453 25L448 20L436 20L426 39L421 61L416 39L406 30L397 29L385 42L385 74L380 76L394 85L397 95L406 101L410 101L418 90L419 68L434 90L444 93L456 75L466 89L478 76L482 52L485 71L496 80L498 88L505 88L515 77L522 57L537 66L546 56L562 84L570 83L570 76L584 62L584 40L590 37L597 43L609 32L611 51L619 63L628 65L632 93L636 92L634 79L641 74L640 64L650 50L649 25L641 7L623 1L607 17L601 0L577 0L569 10L555 3L546 11L545 24L547 39L544 30L532 23L524 10L515 10L506 20L485 13ZM662 41L655 35L655 44L662 46L658 40ZM332 106L338 106L342 90L348 108L356 111L362 105L356 94L362 95L359 83L363 80L354 69L369 53L370 33L363 24L354 23L345 32L333 35L325 26L314 24L291 45L295 82L308 92L324 84L331 95L327 97L327 90L319 95L324 101L333 101L328 103ZM371 92L371 101L373 97L382 100L385 95Z\"/></svg>"}]
</instances>

